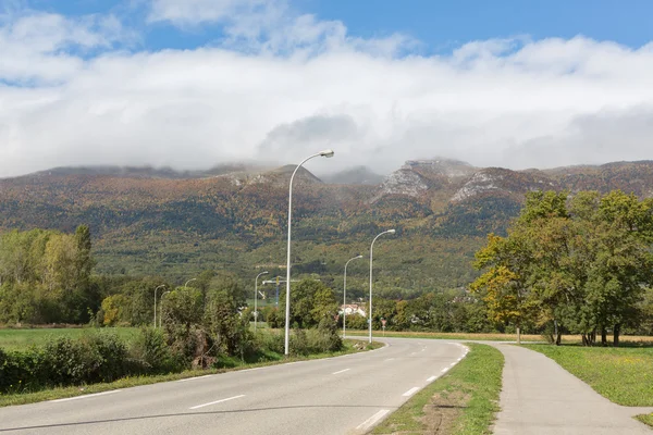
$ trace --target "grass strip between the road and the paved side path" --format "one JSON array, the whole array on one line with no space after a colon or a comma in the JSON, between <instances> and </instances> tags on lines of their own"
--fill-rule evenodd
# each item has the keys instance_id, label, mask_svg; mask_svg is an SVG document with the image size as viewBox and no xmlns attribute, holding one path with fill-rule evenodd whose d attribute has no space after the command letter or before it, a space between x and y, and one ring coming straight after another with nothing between
<instances>
[{"instance_id":1,"label":"grass strip between the road and the paved side path","mask_svg":"<svg viewBox=\"0 0 653 435\"><path fill-rule=\"evenodd\" d=\"M431 433L422 419L428 420L429 408L433 408L430 405L439 396L439 400L451 400L453 406L459 407L453 415L452 434L489 434L490 424L498 411L504 358L488 345L467 346L470 352L460 363L416 394L372 433Z\"/></svg>"}]
</instances>

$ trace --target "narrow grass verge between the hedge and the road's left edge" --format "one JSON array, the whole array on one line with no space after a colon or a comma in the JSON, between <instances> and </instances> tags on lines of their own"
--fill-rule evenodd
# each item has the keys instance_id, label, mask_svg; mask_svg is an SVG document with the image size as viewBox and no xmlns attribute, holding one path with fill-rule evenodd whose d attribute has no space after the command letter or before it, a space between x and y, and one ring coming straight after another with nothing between
<instances>
[{"instance_id":1,"label":"narrow grass verge between the hedge and the road's left edge","mask_svg":"<svg viewBox=\"0 0 653 435\"><path fill-rule=\"evenodd\" d=\"M291 357L284 358L283 355L268 352L266 353L267 361L257 362L257 363L243 363L237 359L229 359L229 361L221 361L222 363L226 363L231 365L230 368L221 368L221 369L208 369L208 370L188 370L182 373L170 373L164 375L156 375L156 376L133 376L133 377L123 377L115 382L111 383L99 383L93 385L83 385L83 386L71 386L64 388L51 388L45 389L36 393L23 393L23 394L9 394L2 395L0 393L0 407L8 407L13 405L26 405L34 403L44 400L54 400L62 399L66 397L82 396L86 394L93 393L102 393L112 389L119 388L128 388L135 387L139 385L149 385L157 384L159 382L169 382L169 381L177 381L184 380L187 377L202 376L206 374L215 374L215 373L225 373L237 370L252 369L258 366L267 366L267 365L275 365L283 364L286 362L294 361L306 361L306 360L315 360L320 358L329 358L329 357L337 357L341 355L347 353L356 353L360 351L373 350L383 346L382 343L374 341L371 345L367 345L364 350L357 350L354 348L354 344L357 340L346 339L343 343L345 344L345 348L337 352L329 352L329 353L315 353L307 357Z\"/></svg>"}]
</instances>

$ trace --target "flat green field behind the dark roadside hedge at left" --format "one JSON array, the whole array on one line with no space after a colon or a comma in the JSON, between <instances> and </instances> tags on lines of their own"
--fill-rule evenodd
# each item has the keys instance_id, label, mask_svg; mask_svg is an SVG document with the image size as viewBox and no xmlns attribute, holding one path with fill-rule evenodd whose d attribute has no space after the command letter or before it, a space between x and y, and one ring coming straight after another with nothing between
<instances>
[{"instance_id":1,"label":"flat green field behind the dark roadside hedge at left","mask_svg":"<svg viewBox=\"0 0 653 435\"><path fill-rule=\"evenodd\" d=\"M58 337L78 338L85 334L97 332L93 327L35 327L29 330L0 330L0 348L5 350L21 350L30 346L42 346L48 340ZM111 331L120 338L130 341L138 333L137 327L111 327L102 328Z\"/></svg>"}]
</instances>

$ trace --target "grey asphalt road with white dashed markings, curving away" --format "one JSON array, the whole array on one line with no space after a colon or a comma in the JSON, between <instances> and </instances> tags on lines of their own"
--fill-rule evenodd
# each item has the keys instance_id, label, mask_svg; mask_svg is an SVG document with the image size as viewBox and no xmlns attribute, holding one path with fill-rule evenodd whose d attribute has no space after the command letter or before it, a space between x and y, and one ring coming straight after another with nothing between
<instances>
[{"instance_id":1,"label":"grey asphalt road with white dashed markings, curving away","mask_svg":"<svg viewBox=\"0 0 653 435\"><path fill-rule=\"evenodd\" d=\"M387 338L345 357L0 408L0 434L364 434L466 353Z\"/></svg>"}]
</instances>

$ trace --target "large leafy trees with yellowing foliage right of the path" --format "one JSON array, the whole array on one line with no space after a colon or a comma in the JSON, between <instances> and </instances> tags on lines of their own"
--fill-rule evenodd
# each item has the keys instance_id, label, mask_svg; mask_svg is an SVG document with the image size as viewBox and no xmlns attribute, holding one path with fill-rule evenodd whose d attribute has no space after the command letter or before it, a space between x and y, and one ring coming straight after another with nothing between
<instances>
[{"instance_id":1,"label":"large leafy trees with yellowing foliage right of the path","mask_svg":"<svg viewBox=\"0 0 653 435\"><path fill-rule=\"evenodd\" d=\"M484 273L471 289L491 320L563 333L596 336L614 345L625 327L648 322L653 283L653 199L612 191L537 191L507 236L488 236L477 252Z\"/></svg>"}]
</instances>

